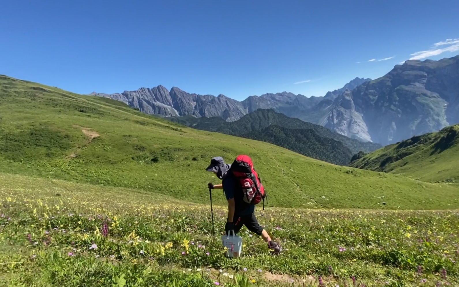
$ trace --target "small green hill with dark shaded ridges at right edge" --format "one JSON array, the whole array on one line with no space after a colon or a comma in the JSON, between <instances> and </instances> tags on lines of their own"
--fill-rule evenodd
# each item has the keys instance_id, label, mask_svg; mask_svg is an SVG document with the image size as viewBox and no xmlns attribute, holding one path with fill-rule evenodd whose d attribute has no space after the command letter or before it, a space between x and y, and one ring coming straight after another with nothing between
<instances>
[{"instance_id":1,"label":"small green hill with dark shaded ridges at right edge","mask_svg":"<svg viewBox=\"0 0 459 287\"><path fill-rule=\"evenodd\" d=\"M426 182L459 182L459 125L415 136L369 153L353 167L403 174Z\"/></svg>"}]
</instances>

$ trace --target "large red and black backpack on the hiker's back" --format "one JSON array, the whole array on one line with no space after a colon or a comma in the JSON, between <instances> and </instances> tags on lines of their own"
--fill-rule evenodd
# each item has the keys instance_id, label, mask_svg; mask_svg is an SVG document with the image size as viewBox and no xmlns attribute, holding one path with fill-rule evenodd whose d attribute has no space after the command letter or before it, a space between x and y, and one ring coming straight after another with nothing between
<instances>
[{"instance_id":1,"label":"large red and black backpack on the hiker's back","mask_svg":"<svg viewBox=\"0 0 459 287\"><path fill-rule=\"evenodd\" d=\"M252 159L246 155L238 156L231 164L231 172L237 177L244 193L244 202L258 204L264 199L268 201L260 177L253 168Z\"/></svg>"}]
</instances>

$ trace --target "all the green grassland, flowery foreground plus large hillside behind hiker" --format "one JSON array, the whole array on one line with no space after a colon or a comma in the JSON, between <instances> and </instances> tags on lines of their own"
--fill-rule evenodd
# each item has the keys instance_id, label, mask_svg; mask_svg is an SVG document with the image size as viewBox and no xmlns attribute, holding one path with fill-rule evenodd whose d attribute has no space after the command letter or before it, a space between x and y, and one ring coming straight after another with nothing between
<instances>
[{"instance_id":1,"label":"all the green grassland, flowery foreground plus large hillside behind hiker","mask_svg":"<svg viewBox=\"0 0 459 287\"><path fill-rule=\"evenodd\" d=\"M268 194L241 257L210 158ZM0 76L1 286L455 286L458 186L325 163L122 102Z\"/></svg>"}]
</instances>

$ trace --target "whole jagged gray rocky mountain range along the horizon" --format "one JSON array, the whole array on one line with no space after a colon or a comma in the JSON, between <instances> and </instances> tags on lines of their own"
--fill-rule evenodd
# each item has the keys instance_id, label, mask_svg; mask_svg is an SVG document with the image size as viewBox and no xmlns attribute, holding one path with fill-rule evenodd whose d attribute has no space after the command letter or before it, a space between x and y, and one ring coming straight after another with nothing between
<instances>
[{"instance_id":1,"label":"whole jagged gray rocky mountain range along the horizon","mask_svg":"<svg viewBox=\"0 0 459 287\"><path fill-rule=\"evenodd\" d=\"M381 78L355 78L325 96L288 92L249 96L190 94L177 87L140 88L119 94L91 93L164 117L220 117L234 122L259 108L319 124L360 141L388 145L459 123L459 56L409 60Z\"/></svg>"}]
</instances>

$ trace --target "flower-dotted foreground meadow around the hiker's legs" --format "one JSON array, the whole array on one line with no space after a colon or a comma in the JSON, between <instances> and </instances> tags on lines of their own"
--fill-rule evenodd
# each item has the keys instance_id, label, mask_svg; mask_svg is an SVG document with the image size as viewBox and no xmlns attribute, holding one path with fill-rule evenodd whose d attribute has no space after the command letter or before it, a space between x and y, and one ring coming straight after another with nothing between
<instances>
[{"instance_id":1,"label":"flower-dotted foreground meadow around the hiker's legs","mask_svg":"<svg viewBox=\"0 0 459 287\"><path fill-rule=\"evenodd\" d=\"M0 264L1 286L111 286L123 275L126 286L304 287L318 286L319 276L325 286L459 283L455 210L258 209L282 254L272 256L244 227L241 258L225 259L224 206L213 209L213 240L208 204L23 175L0 173L0 182L0 262L13 262ZM255 284L229 285L226 273Z\"/></svg>"}]
</instances>

